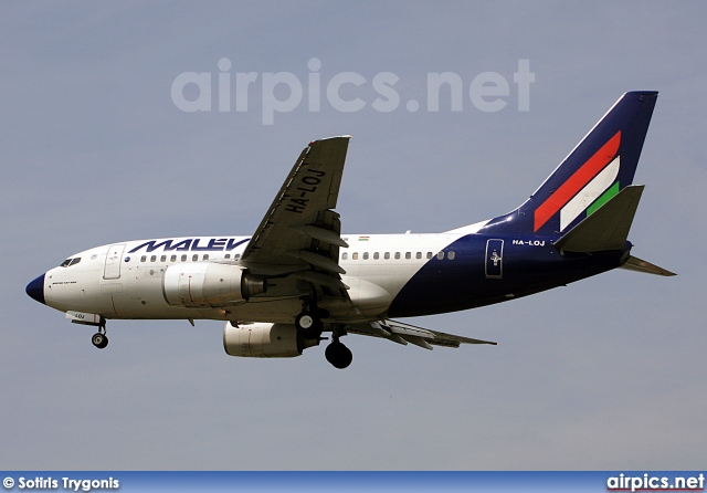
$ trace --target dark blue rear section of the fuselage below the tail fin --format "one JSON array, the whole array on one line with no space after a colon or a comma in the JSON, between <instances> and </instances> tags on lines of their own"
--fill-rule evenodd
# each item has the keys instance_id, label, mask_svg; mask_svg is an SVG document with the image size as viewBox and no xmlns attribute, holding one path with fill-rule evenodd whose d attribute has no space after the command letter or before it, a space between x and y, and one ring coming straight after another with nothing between
<instances>
[{"instance_id":1,"label":"dark blue rear section of the fuselage below the tail fin","mask_svg":"<svg viewBox=\"0 0 707 493\"><path fill-rule=\"evenodd\" d=\"M487 277L488 240L503 240L503 274ZM626 249L631 244L626 243ZM624 251L588 255L564 253L549 239L468 234L428 261L388 310L390 317L432 315L475 308L526 296L615 269ZM450 260L450 253L454 259Z\"/></svg>"}]
</instances>

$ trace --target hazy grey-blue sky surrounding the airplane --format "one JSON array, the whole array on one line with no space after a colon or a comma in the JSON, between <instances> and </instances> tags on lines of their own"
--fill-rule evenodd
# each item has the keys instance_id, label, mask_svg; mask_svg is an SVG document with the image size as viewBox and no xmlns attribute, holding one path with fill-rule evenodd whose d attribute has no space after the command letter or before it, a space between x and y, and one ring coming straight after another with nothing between
<instances>
[{"instance_id":1,"label":"hazy grey-blue sky surrounding the airplane","mask_svg":"<svg viewBox=\"0 0 707 493\"><path fill-rule=\"evenodd\" d=\"M4 469L698 469L707 430L707 171L700 2L6 2L0 7L0 463ZM219 61L231 67L220 71ZM320 63L310 69L310 61ZM514 73L535 75L518 111ZM210 112L172 84L211 74ZM454 73L461 111L428 76ZM508 82L478 109L475 77ZM247 111L217 82L255 73ZM303 85L263 124L264 81ZM356 73L336 109L326 86ZM273 74L273 75L266 75ZM308 106L312 74L320 108ZM400 103L372 105L378 74ZM292 77L289 80L292 80ZM349 78L347 78L349 80ZM357 78L358 80L358 78ZM315 88L313 88L315 87ZM410 319L497 340L425 352L348 337L324 359L224 354L215 322L116 321L110 346L24 294L115 241L250 234L300 149L352 134L337 210L352 233L434 232L531 193L622 93L661 92L631 240L679 275L618 271ZM194 86L184 92L196 97ZM275 88L286 101L287 87ZM419 111L410 112L414 99Z\"/></svg>"}]
</instances>

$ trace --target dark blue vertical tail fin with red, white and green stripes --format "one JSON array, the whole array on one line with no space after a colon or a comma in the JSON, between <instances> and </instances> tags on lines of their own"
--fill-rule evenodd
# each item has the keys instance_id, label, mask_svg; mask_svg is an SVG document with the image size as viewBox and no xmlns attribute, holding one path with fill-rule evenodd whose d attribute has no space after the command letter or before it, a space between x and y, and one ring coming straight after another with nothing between
<instances>
[{"instance_id":1,"label":"dark blue vertical tail fin with red, white and green stripes","mask_svg":"<svg viewBox=\"0 0 707 493\"><path fill-rule=\"evenodd\" d=\"M484 230L560 238L616 197L633 182L657 94L621 96L523 206Z\"/></svg>"}]
</instances>

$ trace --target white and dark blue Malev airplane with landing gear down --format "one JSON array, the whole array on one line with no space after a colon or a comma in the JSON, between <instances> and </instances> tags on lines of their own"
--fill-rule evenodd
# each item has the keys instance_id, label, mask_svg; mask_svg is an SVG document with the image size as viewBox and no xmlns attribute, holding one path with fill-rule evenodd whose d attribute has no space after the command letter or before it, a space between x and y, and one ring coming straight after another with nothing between
<instances>
[{"instance_id":1,"label":"white and dark blue Malev airplane with landing gear down","mask_svg":"<svg viewBox=\"0 0 707 493\"><path fill-rule=\"evenodd\" d=\"M72 323L221 321L226 354L296 357L331 334L346 368L349 334L458 347L489 340L395 321L516 300L616 268L675 275L631 254L644 186L633 185L657 92L622 95L513 211L442 233L341 234L335 211L350 136L312 141L250 237L105 244L71 255L27 294Z\"/></svg>"}]
</instances>

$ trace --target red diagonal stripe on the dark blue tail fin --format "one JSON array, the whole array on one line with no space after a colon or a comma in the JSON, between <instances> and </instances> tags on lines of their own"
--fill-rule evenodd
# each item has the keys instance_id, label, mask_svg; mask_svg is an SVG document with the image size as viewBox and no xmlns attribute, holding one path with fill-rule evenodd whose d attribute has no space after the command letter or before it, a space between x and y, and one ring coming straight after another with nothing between
<instances>
[{"instance_id":1,"label":"red diagonal stripe on the dark blue tail fin","mask_svg":"<svg viewBox=\"0 0 707 493\"><path fill-rule=\"evenodd\" d=\"M555 190L548 199L535 210L535 231L538 231L542 224L557 213L572 197L577 195L592 178L599 175L609 162L616 156L621 144L621 130L611 137L601 149L599 149L587 162L584 162L574 175L562 183L560 188Z\"/></svg>"}]
</instances>

